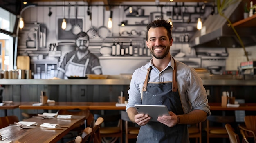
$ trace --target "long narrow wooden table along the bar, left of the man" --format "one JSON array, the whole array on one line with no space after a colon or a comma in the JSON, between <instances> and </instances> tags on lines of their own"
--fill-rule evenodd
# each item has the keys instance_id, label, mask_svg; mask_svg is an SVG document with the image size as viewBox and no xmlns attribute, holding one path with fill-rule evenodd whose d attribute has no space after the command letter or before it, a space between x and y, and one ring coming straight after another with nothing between
<instances>
[{"instance_id":1,"label":"long narrow wooden table along the bar, left of the man","mask_svg":"<svg viewBox=\"0 0 256 143\"><path fill-rule=\"evenodd\" d=\"M54 105L33 106L36 102L21 102L20 109L80 109L80 110L126 110L126 106L116 106L117 102L55 102Z\"/></svg>"}]
</instances>

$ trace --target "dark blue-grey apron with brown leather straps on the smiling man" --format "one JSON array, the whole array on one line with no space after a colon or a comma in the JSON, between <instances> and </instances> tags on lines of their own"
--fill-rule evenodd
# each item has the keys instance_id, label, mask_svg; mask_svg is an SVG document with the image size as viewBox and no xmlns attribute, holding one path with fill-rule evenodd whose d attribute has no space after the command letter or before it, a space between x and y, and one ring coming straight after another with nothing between
<instances>
[{"instance_id":1,"label":"dark blue-grey apron with brown leather straps on the smiling man","mask_svg":"<svg viewBox=\"0 0 256 143\"><path fill-rule=\"evenodd\" d=\"M175 79L173 83L149 83L151 69L152 67L148 68L144 82L142 104L166 105L169 111L184 114L177 90L176 63L173 70L173 79ZM160 122L148 122L140 127L137 143L189 143L187 130L187 125L184 124L168 127Z\"/></svg>"}]
</instances>

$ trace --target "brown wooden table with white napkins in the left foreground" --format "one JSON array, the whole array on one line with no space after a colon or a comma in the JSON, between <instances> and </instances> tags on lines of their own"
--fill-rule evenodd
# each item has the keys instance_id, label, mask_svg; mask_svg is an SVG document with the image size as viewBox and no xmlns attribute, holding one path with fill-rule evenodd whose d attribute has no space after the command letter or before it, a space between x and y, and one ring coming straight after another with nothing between
<instances>
[{"instance_id":1,"label":"brown wooden table with white napkins in the left foreground","mask_svg":"<svg viewBox=\"0 0 256 143\"><path fill-rule=\"evenodd\" d=\"M72 119L41 119L33 117L23 121L36 122L36 128L20 128L17 126L7 126L0 129L4 141L13 141L13 143L56 143L70 130L82 125L86 116L72 116ZM43 128L43 123L59 124L61 128Z\"/></svg>"}]
</instances>

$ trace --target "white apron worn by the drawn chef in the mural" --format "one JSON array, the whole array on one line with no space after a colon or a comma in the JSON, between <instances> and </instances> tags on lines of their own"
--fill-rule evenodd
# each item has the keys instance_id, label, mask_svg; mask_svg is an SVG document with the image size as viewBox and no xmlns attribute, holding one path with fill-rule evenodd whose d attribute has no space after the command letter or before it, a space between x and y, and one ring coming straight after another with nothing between
<instances>
[{"instance_id":1,"label":"white apron worn by the drawn chef in the mural","mask_svg":"<svg viewBox=\"0 0 256 143\"><path fill-rule=\"evenodd\" d=\"M86 69L88 67L89 58L86 59L85 64L79 64L72 62L76 54L72 55L70 60L67 62L67 65L65 67L65 77L64 79L67 79L67 77L70 76L79 76L79 77L85 77L86 75Z\"/></svg>"}]
</instances>

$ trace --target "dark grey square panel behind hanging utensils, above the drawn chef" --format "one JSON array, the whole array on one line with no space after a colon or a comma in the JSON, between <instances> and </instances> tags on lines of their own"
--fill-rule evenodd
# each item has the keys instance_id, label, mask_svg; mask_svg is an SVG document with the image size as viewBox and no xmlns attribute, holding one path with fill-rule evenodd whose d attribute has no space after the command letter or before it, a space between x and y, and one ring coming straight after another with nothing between
<instances>
[{"instance_id":1,"label":"dark grey square panel behind hanging utensils, above the drawn chef","mask_svg":"<svg viewBox=\"0 0 256 143\"><path fill-rule=\"evenodd\" d=\"M72 29L69 31L65 31L61 29L61 24L62 24L62 18L58 19L58 39L59 40L76 40L76 35L72 33ZM76 24L76 19L69 19L70 24L73 26ZM79 25L81 28L83 27L83 19L78 18L77 19L77 25ZM83 31L83 28L82 28Z\"/></svg>"}]
</instances>

